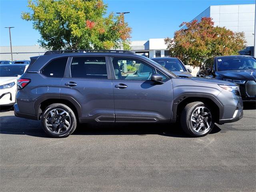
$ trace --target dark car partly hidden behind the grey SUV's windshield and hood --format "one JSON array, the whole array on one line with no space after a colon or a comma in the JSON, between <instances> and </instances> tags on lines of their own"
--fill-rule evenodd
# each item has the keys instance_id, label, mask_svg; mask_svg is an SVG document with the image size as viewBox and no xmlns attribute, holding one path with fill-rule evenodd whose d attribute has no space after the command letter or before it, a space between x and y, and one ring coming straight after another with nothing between
<instances>
[{"instance_id":1,"label":"dark car partly hidden behind the grey SUV's windshield and hood","mask_svg":"<svg viewBox=\"0 0 256 192\"><path fill-rule=\"evenodd\" d=\"M192 75L190 74L191 70L187 69L184 63L178 58L157 57L157 58L150 58L150 59L162 65L163 67L165 67L166 69L170 70L172 73L178 76L192 77Z\"/></svg>"}]
</instances>

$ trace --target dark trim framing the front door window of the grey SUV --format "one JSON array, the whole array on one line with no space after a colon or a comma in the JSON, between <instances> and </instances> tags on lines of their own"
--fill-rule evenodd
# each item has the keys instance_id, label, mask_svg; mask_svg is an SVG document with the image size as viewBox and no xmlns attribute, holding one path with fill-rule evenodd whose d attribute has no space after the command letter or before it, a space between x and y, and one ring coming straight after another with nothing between
<instances>
[{"instance_id":1,"label":"dark trim framing the front door window of the grey SUV","mask_svg":"<svg viewBox=\"0 0 256 192\"><path fill-rule=\"evenodd\" d=\"M137 57L132 57L132 56L108 56L108 60L109 60L109 66L110 66L110 70L111 70L111 76L112 76L112 80L126 80L126 81L147 81L147 80L136 80L136 79L117 79L115 72L114 72L114 65L112 63L112 59L111 58L130 58L130 59L136 59L139 60L140 62L144 62L145 64L147 64L148 66L154 68L155 72L157 73L157 70L162 72L160 69L156 68L155 66L153 66L152 64L150 64L149 62L141 59L141 58L137 58ZM166 80L170 79L170 77L168 75L166 75L164 72L162 72L165 76L166 76Z\"/></svg>"}]
</instances>

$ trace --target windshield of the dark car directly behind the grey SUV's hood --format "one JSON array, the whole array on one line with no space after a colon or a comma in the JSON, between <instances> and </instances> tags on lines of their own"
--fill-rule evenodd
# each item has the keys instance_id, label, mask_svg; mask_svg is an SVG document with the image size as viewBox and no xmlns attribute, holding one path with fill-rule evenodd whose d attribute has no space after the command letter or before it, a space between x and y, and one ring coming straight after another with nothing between
<instances>
[{"instance_id":1,"label":"windshield of the dark car directly behind the grey SUV's hood","mask_svg":"<svg viewBox=\"0 0 256 192\"><path fill-rule=\"evenodd\" d=\"M180 60L176 58L157 58L154 61L169 71L186 71Z\"/></svg>"}]
</instances>

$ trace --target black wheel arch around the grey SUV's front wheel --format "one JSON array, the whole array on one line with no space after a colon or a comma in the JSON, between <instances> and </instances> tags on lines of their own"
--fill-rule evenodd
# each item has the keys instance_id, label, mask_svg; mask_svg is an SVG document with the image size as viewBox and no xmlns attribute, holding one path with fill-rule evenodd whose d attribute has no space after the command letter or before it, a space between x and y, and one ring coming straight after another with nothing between
<instances>
[{"instance_id":1,"label":"black wheel arch around the grey SUV's front wheel","mask_svg":"<svg viewBox=\"0 0 256 192\"><path fill-rule=\"evenodd\" d=\"M214 109L214 111L216 110L216 112L217 112L217 117L215 119L216 122L218 122L222 118L222 116L224 114L224 107L215 96L213 96L211 94L204 94L204 93L202 93L202 94L200 94L200 93L184 93L184 94L178 96L174 100L174 104L172 106L172 112L173 112L173 116L172 116L173 120L172 121L175 122L176 120L179 119L182 109L184 109L186 104L195 102L195 101L207 103L208 105L210 105L211 108Z\"/></svg>"}]
</instances>

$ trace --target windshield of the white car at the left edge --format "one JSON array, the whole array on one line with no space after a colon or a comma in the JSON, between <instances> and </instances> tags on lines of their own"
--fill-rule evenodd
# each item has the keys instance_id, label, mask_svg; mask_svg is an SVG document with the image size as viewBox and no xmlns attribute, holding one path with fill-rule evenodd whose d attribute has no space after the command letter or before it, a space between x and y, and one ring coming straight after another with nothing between
<instances>
[{"instance_id":1,"label":"windshield of the white car at the left edge","mask_svg":"<svg viewBox=\"0 0 256 192\"><path fill-rule=\"evenodd\" d=\"M0 66L0 77L17 77L24 73L25 66Z\"/></svg>"}]
</instances>

